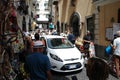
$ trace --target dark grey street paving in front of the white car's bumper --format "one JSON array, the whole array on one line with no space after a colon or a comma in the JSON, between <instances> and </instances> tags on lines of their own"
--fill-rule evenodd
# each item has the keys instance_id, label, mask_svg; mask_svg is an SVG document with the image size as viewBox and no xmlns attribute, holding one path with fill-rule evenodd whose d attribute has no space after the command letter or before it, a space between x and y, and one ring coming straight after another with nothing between
<instances>
[{"instance_id":1,"label":"dark grey street paving in front of the white car's bumper","mask_svg":"<svg viewBox=\"0 0 120 80\"><path fill-rule=\"evenodd\" d=\"M73 72L73 73L66 74L66 73L52 72L52 74L53 74L53 80L89 80L86 75L86 68L84 68L82 71ZM110 74L108 80L120 80L120 78L117 79Z\"/></svg>"}]
</instances>

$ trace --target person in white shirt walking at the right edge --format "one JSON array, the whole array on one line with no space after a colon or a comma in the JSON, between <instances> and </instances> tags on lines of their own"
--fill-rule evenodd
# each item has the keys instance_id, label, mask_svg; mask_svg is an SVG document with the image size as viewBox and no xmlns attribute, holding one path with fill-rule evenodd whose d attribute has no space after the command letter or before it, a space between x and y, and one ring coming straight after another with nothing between
<instances>
[{"instance_id":1,"label":"person in white shirt walking at the right edge","mask_svg":"<svg viewBox=\"0 0 120 80\"><path fill-rule=\"evenodd\" d=\"M116 77L120 77L120 31L116 32L117 38L113 41L114 61L116 65Z\"/></svg>"}]
</instances>

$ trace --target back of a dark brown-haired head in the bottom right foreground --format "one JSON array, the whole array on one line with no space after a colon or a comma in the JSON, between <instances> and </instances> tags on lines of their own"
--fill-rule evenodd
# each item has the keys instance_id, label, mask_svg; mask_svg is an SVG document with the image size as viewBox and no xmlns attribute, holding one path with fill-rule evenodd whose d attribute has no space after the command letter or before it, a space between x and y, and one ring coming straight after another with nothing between
<instances>
[{"instance_id":1,"label":"back of a dark brown-haired head in the bottom right foreground","mask_svg":"<svg viewBox=\"0 0 120 80\"><path fill-rule=\"evenodd\" d=\"M109 77L109 67L104 60L92 57L88 59L86 73L89 80L107 80Z\"/></svg>"}]
</instances>

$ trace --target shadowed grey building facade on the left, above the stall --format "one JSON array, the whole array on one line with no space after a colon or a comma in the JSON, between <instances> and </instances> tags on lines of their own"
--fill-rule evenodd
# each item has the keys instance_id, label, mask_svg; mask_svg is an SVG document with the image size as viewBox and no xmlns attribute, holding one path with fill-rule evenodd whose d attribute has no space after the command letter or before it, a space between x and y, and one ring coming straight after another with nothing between
<instances>
[{"instance_id":1,"label":"shadowed grey building facade on the left, above the stall","mask_svg":"<svg viewBox=\"0 0 120 80\"><path fill-rule=\"evenodd\" d=\"M34 2L31 0L13 0L13 3L19 27L22 31L31 31L31 24L34 21Z\"/></svg>"}]
</instances>

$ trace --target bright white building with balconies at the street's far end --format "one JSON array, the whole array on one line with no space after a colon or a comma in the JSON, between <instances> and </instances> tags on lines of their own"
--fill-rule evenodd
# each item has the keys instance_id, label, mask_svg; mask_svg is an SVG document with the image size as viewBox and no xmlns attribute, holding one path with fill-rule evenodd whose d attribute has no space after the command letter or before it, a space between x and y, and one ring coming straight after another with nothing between
<instances>
[{"instance_id":1,"label":"bright white building with balconies at the street's far end","mask_svg":"<svg viewBox=\"0 0 120 80\"><path fill-rule=\"evenodd\" d=\"M38 27L48 28L50 14L48 0L36 0L35 6L36 23L38 24Z\"/></svg>"}]
</instances>

